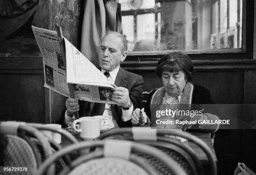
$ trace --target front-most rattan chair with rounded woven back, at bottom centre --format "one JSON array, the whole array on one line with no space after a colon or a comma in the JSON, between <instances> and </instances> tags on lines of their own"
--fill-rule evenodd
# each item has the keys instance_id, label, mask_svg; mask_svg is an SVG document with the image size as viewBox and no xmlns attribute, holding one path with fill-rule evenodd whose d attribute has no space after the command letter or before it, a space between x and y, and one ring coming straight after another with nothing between
<instances>
[{"instance_id":1,"label":"front-most rattan chair with rounded woven back, at bottom centre","mask_svg":"<svg viewBox=\"0 0 256 175\"><path fill-rule=\"evenodd\" d=\"M40 167L37 175L43 175L44 171L59 157L71 152L90 149L90 148L103 148L96 149L94 152L90 152L87 155L82 155L70 164L67 169L61 172L64 174L76 174L76 175L108 175L108 174L149 174L157 175L157 172L152 169L145 161L141 160L131 152L142 152L144 154L151 155L161 162L164 162L170 169L173 170L174 174L185 175L186 173L182 170L182 167L177 164L171 157L164 154L160 150L125 140L94 140L84 141L78 144L70 145L56 152L54 155L49 157Z\"/></svg>"}]
</instances>

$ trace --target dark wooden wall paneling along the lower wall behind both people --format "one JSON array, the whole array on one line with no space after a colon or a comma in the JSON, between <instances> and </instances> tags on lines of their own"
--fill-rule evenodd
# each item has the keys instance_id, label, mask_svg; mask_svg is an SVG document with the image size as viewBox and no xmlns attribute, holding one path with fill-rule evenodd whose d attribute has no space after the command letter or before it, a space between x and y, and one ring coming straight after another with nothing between
<instances>
[{"instance_id":1,"label":"dark wooden wall paneling along the lower wall behind both people","mask_svg":"<svg viewBox=\"0 0 256 175\"><path fill-rule=\"evenodd\" d=\"M255 63L244 60L240 62L242 68L238 68L239 61L195 61L197 72L192 83L208 88L218 104L255 103ZM221 68L220 64L223 64ZM144 63L122 66L143 76L144 91L162 86L161 79L154 74L156 62L149 66ZM3 93L1 120L63 123L66 97L44 88L41 57L0 58L0 81L4 82L0 88Z\"/></svg>"}]
</instances>

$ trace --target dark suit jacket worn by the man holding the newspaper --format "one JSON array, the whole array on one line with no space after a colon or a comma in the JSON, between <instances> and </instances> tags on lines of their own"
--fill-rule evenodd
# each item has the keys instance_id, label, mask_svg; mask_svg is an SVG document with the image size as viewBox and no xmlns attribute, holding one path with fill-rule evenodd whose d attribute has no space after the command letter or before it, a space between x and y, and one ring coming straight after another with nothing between
<instances>
[{"instance_id":1,"label":"dark suit jacket worn by the man holding the newspaper","mask_svg":"<svg viewBox=\"0 0 256 175\"><path fill-rule=\"evenodd\" d=\"M115 79L115 85L125 87L129 91L129 97L133 103L133 109L141 108L141 98L143 92L143 78L137 74L119 68ZM94 103L79 100L79 117L102 115L105 110L104 103ZM114 119L119 127L132 127L131 120L124 122L122 119L122 109L117 104L111 104Z\"/></svg>"}]
</instances>

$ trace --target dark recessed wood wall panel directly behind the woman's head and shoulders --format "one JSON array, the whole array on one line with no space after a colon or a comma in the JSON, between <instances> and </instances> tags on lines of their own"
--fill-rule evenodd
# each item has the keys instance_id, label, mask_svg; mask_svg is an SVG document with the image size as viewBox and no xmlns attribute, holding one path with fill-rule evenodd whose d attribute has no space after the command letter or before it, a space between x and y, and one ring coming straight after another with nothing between
<instances>
[{"instance_id":1,"label":"dark recessed wood wall panel directly behind the woman's head and shoulders","mask_svg":"<svg viewBox=\"0 0 256 175\"><path fill-rule=\"evenodd\" d=\"M133 71L143 76L144 91L151 91L162 85L154 71ZM212 99L218 104L243 103L244 71L197 71L193 84L210 90Z\"/></svg>"}]
</instances>

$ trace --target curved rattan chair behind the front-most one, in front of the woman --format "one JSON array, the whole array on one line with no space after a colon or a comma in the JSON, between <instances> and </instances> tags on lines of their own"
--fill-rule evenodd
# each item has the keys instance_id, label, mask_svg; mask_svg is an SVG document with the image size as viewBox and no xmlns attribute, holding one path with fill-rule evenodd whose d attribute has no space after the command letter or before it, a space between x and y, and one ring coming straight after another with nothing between
<instances>
[{"instance_id":1,"label":"curved rattan chair behind the front-most one, in front of the woman","mask_svg":"<svg viewBox=\"0 0 256 175\"><path fill-rule=\"evenodd\" d=\"M123 137L118 137L120 134ZM110 139L128 139L152 145L173 157L174 160L176 160L187 172L187 174L202 175L202 165L193 150L179 140L166 137L166 135L183 137L198 145L207 155L210 163L209 174L217 174L216 162L210 148L201 139L187 132L178 132L171 129L150 129L145 127L120 128L102 133L98 139L106 139L108 137ZM172 173L171 170L169 170L166 166L159 164L159 162L155 162L156 160L146 157L145 155L141 156L145 157L148 163L158 170L159 174Z\"/></svg>"}]
</instances>

